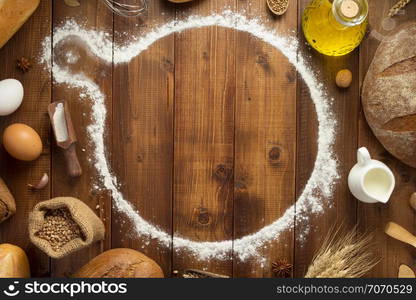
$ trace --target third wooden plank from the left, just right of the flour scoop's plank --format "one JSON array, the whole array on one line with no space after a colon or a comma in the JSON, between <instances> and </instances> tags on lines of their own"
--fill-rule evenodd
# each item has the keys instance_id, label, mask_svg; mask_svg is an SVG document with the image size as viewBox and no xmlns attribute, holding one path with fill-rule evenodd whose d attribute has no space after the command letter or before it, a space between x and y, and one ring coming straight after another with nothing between
<instances>
[{"instance_id":1,"label":"third wooden plank from the left, just right of the flour scoop's plank","mask_svg":"<svg viewBox=\"0 0 416 300\"><path fill-rule=\"evenodd\" d=\"M175 15L167 1L149 1L144 20L115 17L115 42L124 33L140 36ZM141 22L144 23L141 23ZM114 69L113 168L125 198L147 221L172 232L174 36L154 43L129 64ZM171 249L147 238L130 236L131 224L123 214L113 214L113 248L144 252L171 274Z\"/></svg>"}]
</instances>

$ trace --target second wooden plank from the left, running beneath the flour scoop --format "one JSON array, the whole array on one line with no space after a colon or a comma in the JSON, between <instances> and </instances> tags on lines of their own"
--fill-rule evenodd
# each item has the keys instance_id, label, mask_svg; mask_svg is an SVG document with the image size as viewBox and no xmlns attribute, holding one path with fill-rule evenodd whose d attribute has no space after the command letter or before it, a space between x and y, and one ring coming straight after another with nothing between
<instances>
[{"instance_id":1,"label":"second wooden plank from the left, running beneath the flour scoop","mask_svg":"<svg viewBox=\"0 0 416 300\"><path fill-rule=\"evenodd\" d=\"M53 24L59 26L68 18L71 18L79 24L84 24L88 29L105 31L112 34L113 31L113 14L100 1L81 1L79 7L69 7L63 1L54 1ZM65 44L63 42L57 49L54 49L54 55L59 60L66 53L72 51L80 55L80 59L73 66L69 66L74 72L82 72L97 83L106 97L108 108L107 126L111 128L112 120L112 65L100 61L99 58L87 55L88 50L82 43L73 40ZM90 124L90 107L89 99L80 99L80 90L68 88L66 85L53 86L53 101L66 100L69 103L72 122L75 125L75 132L78 138L78 157L83 169L80 178L71 179L66 171L64 157L60 149L56 147L55 139L52 142L52 196L72 196L81 199L88 204L101 217L105 223L106 236L105 241L95 243L94 245L78 251L59 261L52 260L52 276L68 276L80 268L90 259L101 253L103 250L111 247L111 199L106 191L93 191L93 185L97 172L89 161L92 155L92 145L86 132ZM111 153L111 133L107 137L107 150ZM85 149L85 152L83 151Z\"/></svg>"}]
</instances>

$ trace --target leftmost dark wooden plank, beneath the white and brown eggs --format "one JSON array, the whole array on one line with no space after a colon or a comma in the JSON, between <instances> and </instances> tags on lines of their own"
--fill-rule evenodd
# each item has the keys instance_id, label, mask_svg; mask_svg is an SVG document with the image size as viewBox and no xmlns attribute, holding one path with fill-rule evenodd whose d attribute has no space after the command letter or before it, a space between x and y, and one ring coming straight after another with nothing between
<instances>
[{"instance_id":1,"label":"leftmost dark wooden plank, beneath the white and brown eggs","mask_svg":"<svg viewBox=\"0 0 416 300\"><path fill-rule=\"evenodd\" d=\"M25 123L40 134L44 144L41 157L29 163L12 159L3 147L0 149L0 176L9 186L17 205L16 215L0 224L0 243L22 247L29 256L32 276L36 277L49 275L49 259L30 243L27 216L36 203L49 199L50 191L46 188L32 192L27 184L39 180L43 173L50 173L49 122L45 112L51 98L51 80L44 66L37 63L41 43L45 36L51 34L50 12L51 2L41 1L34 15L0 50L0 80L16 78L25 89L19 110L0 118L0 132L3 133L10 124ZM25 74L16 68L16 59L22 56L29 58L33 64L33 68Z\"/></svg>"}]
</instances>

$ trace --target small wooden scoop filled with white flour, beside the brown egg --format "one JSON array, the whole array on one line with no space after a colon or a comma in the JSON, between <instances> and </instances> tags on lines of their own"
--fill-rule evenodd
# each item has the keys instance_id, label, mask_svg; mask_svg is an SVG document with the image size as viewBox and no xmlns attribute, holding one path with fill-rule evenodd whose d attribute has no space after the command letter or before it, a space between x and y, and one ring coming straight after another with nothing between
<instances>
[{"instance_id":1,"label":"small wooden scoop filled with white flour, beside the brown egg","mask_svg":"<svg viewBox=\"0 0 416 300\"><path fill-rule=\"evenodd\" d=\"M77 137L69 114L68 104L65 101L56 101L48 106L49 118L51 119L56 143L65 155L66 166L71 177L82 174L81 165L77 157L75 143Z\"/></svg>"}]
</instances>

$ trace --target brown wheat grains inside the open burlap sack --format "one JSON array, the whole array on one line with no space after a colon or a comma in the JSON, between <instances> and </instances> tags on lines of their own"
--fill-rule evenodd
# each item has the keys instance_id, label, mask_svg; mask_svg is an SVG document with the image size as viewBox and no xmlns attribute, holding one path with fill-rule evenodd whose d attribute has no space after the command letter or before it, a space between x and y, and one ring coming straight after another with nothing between
<instances>
[{"instance_id":1,"label":"brown wheat grains inside the open burlap sack","mask_svg":"<svg viewBox=\"0 0 416 300\"><path fill-rule=\"evenodd\" d=\"M46 240L54 251L61 250L74 239L84 239L81 228L67 208L47 210L43 227L35 235Z\"/></svg>"}]
</instances>

